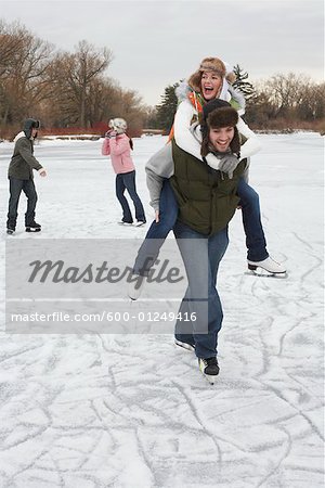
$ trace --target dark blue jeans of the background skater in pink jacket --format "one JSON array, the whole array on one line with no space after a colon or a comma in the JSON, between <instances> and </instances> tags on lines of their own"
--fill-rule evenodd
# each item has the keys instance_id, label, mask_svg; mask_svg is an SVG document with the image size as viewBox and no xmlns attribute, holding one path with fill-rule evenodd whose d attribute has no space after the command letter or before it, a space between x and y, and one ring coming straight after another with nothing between
<instances>
[{"instance_id":1,"label":"dark blue jeans of the background skater in pink jacket","mask_svg":"<svg viewBox=\"0 0 325 488\"><path fill-rule=\"evenodd\" d=\"M138 221L145 222L144 208L135 189L135 170L116 175L115 188L117 200L121 204L123 211L122 221L127 223L133 222L128 201L125 197L125 191L128 190L129 195L134 204L135 219Z\"/></svg>"}]
</instances>

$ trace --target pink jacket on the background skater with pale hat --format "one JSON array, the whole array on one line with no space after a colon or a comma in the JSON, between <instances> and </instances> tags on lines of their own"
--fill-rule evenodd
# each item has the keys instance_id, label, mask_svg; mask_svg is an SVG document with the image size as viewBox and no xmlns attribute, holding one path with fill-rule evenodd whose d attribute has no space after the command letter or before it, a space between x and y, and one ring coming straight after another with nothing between
<instances>
[{"instance_id":1,"label":"pink jacket on the background skater with pale hat","mask_svg":"<svg viewBox=\"0 0 325 488\"><path fill-rule=\"evenodd\" d=\"M135 169L131 158L129 138L125 133L120 133L116 138L105 138L102 154L110 156L113 169L117 175Z\"/></svg>"}]
</instances>

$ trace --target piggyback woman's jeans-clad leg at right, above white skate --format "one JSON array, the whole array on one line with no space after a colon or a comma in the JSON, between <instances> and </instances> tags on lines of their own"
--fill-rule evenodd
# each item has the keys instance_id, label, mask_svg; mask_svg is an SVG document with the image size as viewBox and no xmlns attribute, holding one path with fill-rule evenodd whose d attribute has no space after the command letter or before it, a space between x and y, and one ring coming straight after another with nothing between
<instances>
[{"instance_id":1,"label":"piggyback woman's jeans-clad leg at right, above white skate","mask_svg":"<svg viewBox=\"0 0 325 488\"><path fill-rule=\"evenodd\" d=\"M262 261L269 257L269 253L261 222L259 195L244 178L239 179L237 194L240 198L239 205L246 234L247 259Z\"/></svg>"}]
</instances>

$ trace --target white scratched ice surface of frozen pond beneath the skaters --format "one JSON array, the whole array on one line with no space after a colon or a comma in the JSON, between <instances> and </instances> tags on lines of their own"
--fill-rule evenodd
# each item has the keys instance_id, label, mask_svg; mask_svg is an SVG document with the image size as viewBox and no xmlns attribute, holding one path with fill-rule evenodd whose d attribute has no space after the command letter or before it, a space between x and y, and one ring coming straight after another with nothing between
<instances>
[{"instance_id":1,"label":"white scratched ice surface of frozen pond beneath the skaters","mask_svg":"<svg viewBox=\"0 0 325 488\"><path fill-rule=\"evenodd\" d=\"M287 280L244 274L238 211L222 261L221 374L210 387L170 335L8 335L0 352L3 487L323 486L323 139L260 136L250 182L261 197L270 253ZM144 164L166 141L134 139L138 190ZM6 167L1 151L1 308L4 325ZM41 141L36 176L39 239L134 239L101 141ZM136 241L136 242L135 242ZM138 306L138 304L136 304Z\"/></svg>"}]
</instances>

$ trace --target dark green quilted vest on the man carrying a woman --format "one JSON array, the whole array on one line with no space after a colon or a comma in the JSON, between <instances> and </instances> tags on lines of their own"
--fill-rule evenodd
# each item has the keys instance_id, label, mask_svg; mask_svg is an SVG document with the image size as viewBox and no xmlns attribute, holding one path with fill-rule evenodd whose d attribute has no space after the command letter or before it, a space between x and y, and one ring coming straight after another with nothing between
<instances>
[{"instance_id":1,"label":"dark green quilted vest on the man carrying a woman","mask_svg":"<svg viewBox=\"0 0 325 488\"><path fill-rule=\"evenodd\" d=\"M181 150L172 141L174 174L170 183L179 205L179 219L195 231L212 235L232 219L239 198L238 180L245 170L240 162L233 178L211 169L206 163Z\"/></svg>"}]
</instances>

